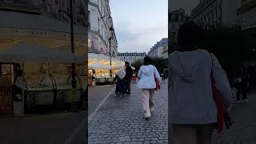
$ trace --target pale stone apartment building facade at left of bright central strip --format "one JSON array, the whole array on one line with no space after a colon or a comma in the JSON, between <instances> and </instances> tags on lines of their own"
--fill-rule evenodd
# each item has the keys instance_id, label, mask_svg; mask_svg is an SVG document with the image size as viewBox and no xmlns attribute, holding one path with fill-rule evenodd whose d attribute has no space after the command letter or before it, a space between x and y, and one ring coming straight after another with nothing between
<instances>
[{"instance_id":1,"label":"pale stone apartment building facade at left of bright central strip","mask_svg":"<svg viewBox=\"0 0 256 144\"><path fill-rule=\"evenodd\" d=\"M117 57L118 42L114 33L109 0L90 0L88 10L89 52Z\"/></svg>"}]
</instances>

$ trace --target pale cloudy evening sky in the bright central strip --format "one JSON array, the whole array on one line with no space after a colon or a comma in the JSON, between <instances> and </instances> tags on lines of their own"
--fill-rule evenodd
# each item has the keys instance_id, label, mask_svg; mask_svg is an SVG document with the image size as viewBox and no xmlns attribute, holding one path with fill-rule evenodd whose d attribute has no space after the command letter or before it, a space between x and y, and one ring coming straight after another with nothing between
<instances>
[{"instance_id":1,"label":"pale cloudy evening sky in the bright central strip","mask_svg":"<svg viewBox=\"0 0 256 144\"><path fill-rule=\"evenodd\" d=\"M110 0L118 52L146 52L168 37L168 0Z\"/></svg>"}]
</instances>

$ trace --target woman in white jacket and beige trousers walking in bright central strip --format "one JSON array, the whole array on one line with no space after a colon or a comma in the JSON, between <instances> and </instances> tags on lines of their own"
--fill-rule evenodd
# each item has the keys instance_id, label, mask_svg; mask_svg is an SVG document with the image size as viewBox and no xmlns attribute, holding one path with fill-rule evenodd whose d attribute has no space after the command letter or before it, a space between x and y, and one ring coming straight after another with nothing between
<instances>
[{"instance_id":1,"label":"woman in white jacket and beige trousers walking in bright central strip","mask_svg":"<svg viewBox=\"0 0 256 144\"><path fill-rule=\"evenodd\" d=\"M144 117L150 118L151 113L154 111L154 89L156 88L156 82L154 78L157 78L158 84L161 82L160 75L155 66L151 65L151 58L144 58L144 66L138 70L138 84L137 87L142 89L142 106L145 111Z\"/></svg>"}]
</instances>

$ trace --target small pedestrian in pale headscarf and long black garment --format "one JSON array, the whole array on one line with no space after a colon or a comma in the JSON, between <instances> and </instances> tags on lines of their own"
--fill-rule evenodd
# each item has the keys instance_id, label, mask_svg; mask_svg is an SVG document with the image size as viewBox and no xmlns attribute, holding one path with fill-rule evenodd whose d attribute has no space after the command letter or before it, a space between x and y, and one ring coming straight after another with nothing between
<instances>
[{"instance_id":1,"label":"small pedestrian in pale headscarf and long black garment","mask_svg":"<svg viewBox=\"0 0 256 144\"><path fill-rule=\"evenodd\" d=\"M125 78L126 71L122 67L119 68L117 74L115 75L114 81L117 81L115 94L116 96L122 97L123 94L126 94L126 83L123 78Z\"/></svg>"}]
</instances>

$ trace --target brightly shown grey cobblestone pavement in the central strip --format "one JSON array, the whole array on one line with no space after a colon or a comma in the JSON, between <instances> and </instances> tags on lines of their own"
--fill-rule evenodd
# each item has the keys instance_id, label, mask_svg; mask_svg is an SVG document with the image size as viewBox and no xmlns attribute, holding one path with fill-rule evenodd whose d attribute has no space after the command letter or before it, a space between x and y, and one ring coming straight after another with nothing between
<instances>
[{"instance_id":1,"label":"brightly shown grey cobblestone pavement in the central strip","mask_svg":"<svg viewBox=\"0 0 256 144\"><path fill-rule=\"evenodd\" d=\"M132 95L112 94L88 124L88 143L168 143L167 82L154 96L154 114L143 118L141 90L132 83ZM90 102L90 101L89 101Z\"/></svg>"}]
</instances>

